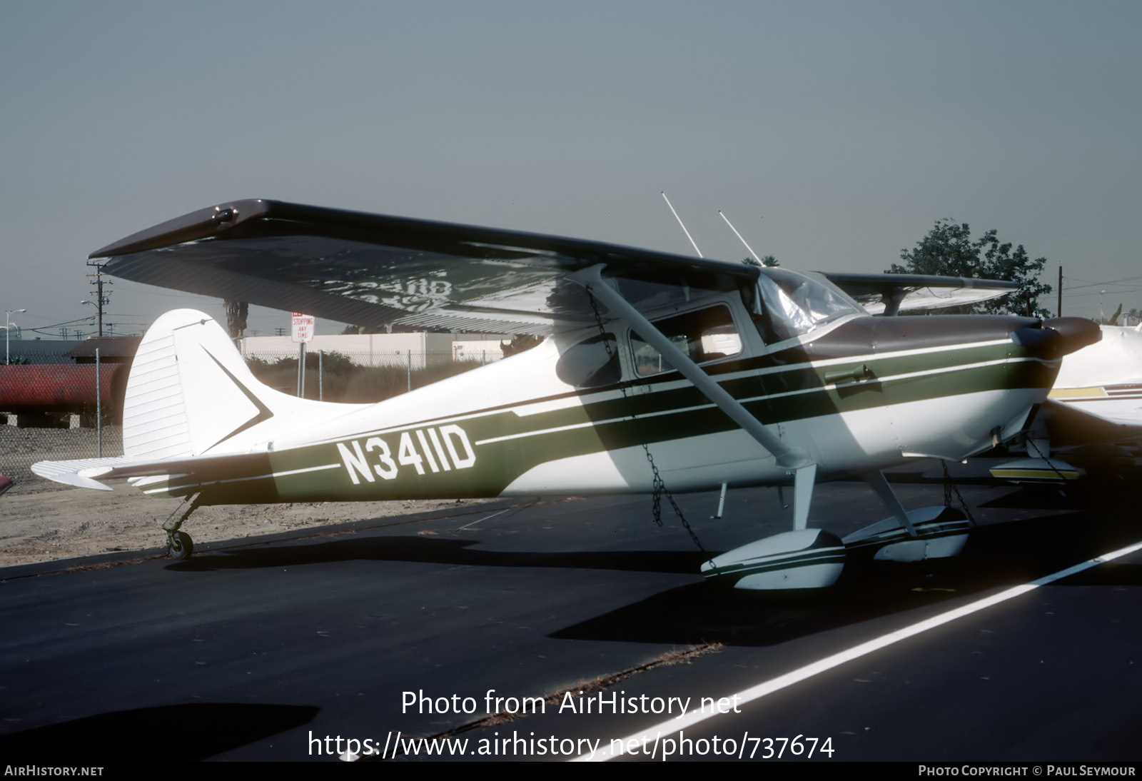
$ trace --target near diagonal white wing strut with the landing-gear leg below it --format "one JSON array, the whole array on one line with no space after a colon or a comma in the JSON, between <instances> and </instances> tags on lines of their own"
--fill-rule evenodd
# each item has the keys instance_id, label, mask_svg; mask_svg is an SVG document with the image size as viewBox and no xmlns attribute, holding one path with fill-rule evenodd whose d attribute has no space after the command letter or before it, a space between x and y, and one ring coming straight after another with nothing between
<instances>
[{"instance_id":1,"label":"near diagonal white wing strut with the landing-gear leg below it","mask_svg":"<svg viewBox=\"0 0 1142 781\"><path fill-rule=\"evenodd\" d=\"M638 309L622 298L611 285L603 281L604 265L598 264L571 275L571 279L584 285L592 296L603 301L606 308L620 317L627 325L642 337L643 341L657 349L671 367L683 377L693 383L694 387L709 398L719 410L730 416L742 430L773 454L779 466L786 467L794 475L794 528L804 529L809 518L809 502L812 497L813 481L817 476L817 464L801 448L787 444L781 437L770 433L754 414L731 396L721 385L715 383L701 367L689 355L678 349L673 341L662 335L646 320Z\"/></svg>"}]
</instances>

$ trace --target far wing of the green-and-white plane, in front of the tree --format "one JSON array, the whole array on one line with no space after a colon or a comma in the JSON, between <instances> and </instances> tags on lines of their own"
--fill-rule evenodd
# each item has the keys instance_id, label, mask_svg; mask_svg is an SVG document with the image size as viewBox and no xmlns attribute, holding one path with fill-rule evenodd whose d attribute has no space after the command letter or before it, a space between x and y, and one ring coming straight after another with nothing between
<instances>
[{"instance_id":1,"label":"far wing of the green-and-white plane, in front of the tree","mask_svg":"<svg viewBox=\"0 0 1142 781\"><path fill-rule=\"evenodd\" d=\"M846 274L825 272L869 314L940 309L979 304L1019 290L1018 282L927 274Z\"/></svg>"}]
</instances>

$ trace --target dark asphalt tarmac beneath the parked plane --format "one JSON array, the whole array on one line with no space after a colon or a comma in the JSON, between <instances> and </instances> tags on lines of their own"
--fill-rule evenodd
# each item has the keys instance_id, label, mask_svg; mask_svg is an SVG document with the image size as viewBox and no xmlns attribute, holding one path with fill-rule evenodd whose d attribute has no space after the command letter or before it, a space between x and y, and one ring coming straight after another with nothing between
<instances>
[{"instance_id":1,"label":"dark asphalt tarmac beneath the parked plane","mask_svg":"<svg viewBox=\"0 0 1142 781\"><path fill-rule=\"evenodd\" d=\"M813 594L705 582L708 554L666 502L656 526L649 497L383 518L186 562L9 567L0 755L549 760L621 744L625 759L1139 759L1142 553L746 701L1142 540L1132 485L1060 497L980 483L960 484L979 522L960 556L853 562ZM894 485L907 507L943 502L918 474ZM775 489L731 490L719 520L717 494L678 502L708 551L790 523ZM818 486L812 525L843 536L884 515L863 484L833 483ZM710 717L674 730L703 706Z\"/></svg>"}]
</instances>

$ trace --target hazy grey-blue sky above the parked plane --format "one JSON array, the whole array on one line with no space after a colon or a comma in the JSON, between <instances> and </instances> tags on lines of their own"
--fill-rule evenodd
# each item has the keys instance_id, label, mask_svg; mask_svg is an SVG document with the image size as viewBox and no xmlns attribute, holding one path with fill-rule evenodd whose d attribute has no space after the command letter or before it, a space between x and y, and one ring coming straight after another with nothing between
<instances>
[{"instance_id":1,"label":"hazy grey-blue sky above the parked plane","mask_svg":"<svg viewBox=\"0 0 1142 781\"><path fill-rule=\"evenodd\" d=\"M882 272L938 219L1142 308L1142 3L3 0L0 307L91 330L88 253L266 198ZM220 301L114 281L140 333ZM1045 301L1055 309L1055 295ZM255 308L248 333L288 327ZM319 321L317 332L337 332Z\"/></svg>"}]
</instances>

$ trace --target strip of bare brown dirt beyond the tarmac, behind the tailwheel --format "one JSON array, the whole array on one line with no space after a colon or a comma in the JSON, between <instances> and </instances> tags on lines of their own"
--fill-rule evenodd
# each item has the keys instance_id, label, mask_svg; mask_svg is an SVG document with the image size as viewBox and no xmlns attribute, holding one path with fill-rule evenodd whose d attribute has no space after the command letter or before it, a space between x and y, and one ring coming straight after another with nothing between
<instances>
[{"instance_id":1,"label":"strip of bare brown dirt beyond the tarmac, behind the tailwheel","mask_svg":"<svg viewBox=\"0 0 1142 781\"><path fill-rule=\"evenodd\" d=\"M0 567L166 546L167 534L160 524L179 501L148 497L126 481L114 481L113 488L91 491L59 485L0 497ZM200 507L185 529L195 544L214 542L478 501L491 500L224 505Z\"/></svg>"}]
</instances>

